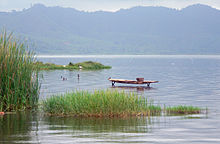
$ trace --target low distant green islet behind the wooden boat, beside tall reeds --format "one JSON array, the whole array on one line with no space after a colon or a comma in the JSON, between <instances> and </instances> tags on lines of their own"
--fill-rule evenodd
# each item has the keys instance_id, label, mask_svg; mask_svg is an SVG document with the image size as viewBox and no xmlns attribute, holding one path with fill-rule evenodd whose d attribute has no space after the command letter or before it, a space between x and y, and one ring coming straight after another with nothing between
<instances>
[{"instance_id":1,"label":"low distant green islet behind the wooden boat, beside tall reeds","mask_svg":"<svg viewBox=\"0 0 220 144\"><path fill-rule=\"evenodd\" d=\"M98 62L93 61L85 61L81 63L72 63L70 62L68 65L57 65L54 63L43 63L36 62L36 66L39 67L40 70L58 70L58 69L69 69L69 70L100 70L100 69L110 69L111 66L105 66Z\"/></svg>"}]
</instances>

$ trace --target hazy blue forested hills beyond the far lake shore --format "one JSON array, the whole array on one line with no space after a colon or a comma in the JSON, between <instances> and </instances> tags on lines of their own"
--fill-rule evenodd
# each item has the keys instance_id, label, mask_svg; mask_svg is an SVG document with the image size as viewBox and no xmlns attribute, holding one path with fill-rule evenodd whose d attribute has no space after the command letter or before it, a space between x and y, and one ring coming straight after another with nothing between
<instances>
[{"instance_id":1,"label":"hazy blue forested hills beyond the far lake shore","mask_svg":"<svg viewBox=\"0 0 220 144\"><path fill-rule=\"evenodd\" d=\"M199 4L117 12L37 4L0 12L0 28L31 42L39 54L220 54L220 11Z\"/></svg>"}]
</instances>

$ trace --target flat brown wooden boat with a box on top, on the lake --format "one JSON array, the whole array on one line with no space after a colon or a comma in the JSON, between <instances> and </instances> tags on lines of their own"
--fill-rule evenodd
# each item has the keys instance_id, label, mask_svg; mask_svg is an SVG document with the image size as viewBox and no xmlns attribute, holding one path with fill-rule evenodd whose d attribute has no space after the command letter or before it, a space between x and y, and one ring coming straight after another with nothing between
<instances>
[{"instance_id":1,"label":"flat brown wooden boat with a box on top, on the lake","mask_svg":"<svg viewBox=\"0 0 220 144\"><path fill-rule=\"evenodd\" d=\"M115 83L125 83L125 84L147 84L148 87L150 87L151 83L158 83L159 81L144 81L144 78L136 78L136 80L125 80L125 79L112 79L108 78L109 81L112 82L112 86L115 85Z\"/></svg>"}]
</instances>

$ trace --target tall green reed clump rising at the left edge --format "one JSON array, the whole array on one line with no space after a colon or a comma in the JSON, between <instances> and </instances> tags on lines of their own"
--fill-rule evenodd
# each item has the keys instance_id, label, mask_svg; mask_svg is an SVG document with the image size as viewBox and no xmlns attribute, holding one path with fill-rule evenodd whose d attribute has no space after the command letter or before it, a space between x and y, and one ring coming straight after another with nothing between
<instances>
[{"instance_id":1,"label":"tall green reed clump rising at the left edge","mask_svg":"<svg viewBox=\"0 0 220 144\"><path fill-rule=\"evenodd\" d=\"M0 111L29 109L38 102L37 67L26 48L12 34L0 35Z\"/></svg>"}]
</instances>

